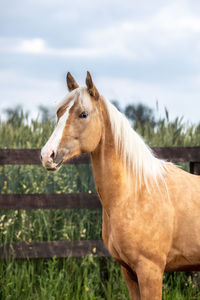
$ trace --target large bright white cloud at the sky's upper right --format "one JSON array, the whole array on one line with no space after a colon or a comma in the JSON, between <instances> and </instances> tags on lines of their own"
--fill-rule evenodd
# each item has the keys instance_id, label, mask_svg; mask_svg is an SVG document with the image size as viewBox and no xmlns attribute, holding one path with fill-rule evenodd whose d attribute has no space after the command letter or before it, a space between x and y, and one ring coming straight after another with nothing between
<instances>
[{"instance_id":1,"label":"large bright white cloud at the sky's upper right","mask_svg":"<svg viewBox=\"0 0 200 300\"><path fill-rule=\"evenodd\" d=\"M120 49L127 58L137 60L155 60L167 51L180 57L178 48L188 49L191 42L197 45L200 33L199 16L195 16L184 2L165 5L140 20L130 18L95 28L89 32L88 41L96 47L107 45L109 48L112 43L113 50Z\"/></svg>"}]
</instances>

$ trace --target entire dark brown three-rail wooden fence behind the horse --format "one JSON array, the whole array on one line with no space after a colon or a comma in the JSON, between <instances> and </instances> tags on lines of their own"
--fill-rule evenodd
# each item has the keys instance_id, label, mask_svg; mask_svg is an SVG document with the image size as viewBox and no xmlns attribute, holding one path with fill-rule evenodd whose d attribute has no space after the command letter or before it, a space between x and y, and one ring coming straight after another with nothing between
<instances>
[{"instance_id":1,"label":"entire dark brown three-rail wooden fence behind the horse","mask_svg":"<svg viewBox=\"0 0 200 300\"><path fill-rule=\"evenodd\" d=\"M190 172L200 174L200 147L154 147L159 158L171 162L189 162ZM89 155L81 155L68 164L88 164ZM0 149L0 165L40 164L39 149ZM97 194L0 194L0 209L101 209ZM49 258L109 256L101 240L20 242L0 245L0 258Z\"/></svg>"}]
</instances>

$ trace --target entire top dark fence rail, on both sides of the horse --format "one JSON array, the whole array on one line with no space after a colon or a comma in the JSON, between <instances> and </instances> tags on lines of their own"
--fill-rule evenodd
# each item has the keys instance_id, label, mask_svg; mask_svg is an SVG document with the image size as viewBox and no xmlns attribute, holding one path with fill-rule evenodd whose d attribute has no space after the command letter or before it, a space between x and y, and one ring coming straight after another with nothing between
<instances>
[{"instance_id":1,"label":"entire top dark fence rail, on both sides of the horse","mask_svg":"<svg viewBox=\"0 0 200 300\"><path fill-rule=\"evenodd\" d=\"M159 158L172 162L200 161L200 147L152 147ZM88 164L90 155L83 154L67 164ZM0 165L41 164L40 149L0 149Z\"/></svg>"}]
</instances>

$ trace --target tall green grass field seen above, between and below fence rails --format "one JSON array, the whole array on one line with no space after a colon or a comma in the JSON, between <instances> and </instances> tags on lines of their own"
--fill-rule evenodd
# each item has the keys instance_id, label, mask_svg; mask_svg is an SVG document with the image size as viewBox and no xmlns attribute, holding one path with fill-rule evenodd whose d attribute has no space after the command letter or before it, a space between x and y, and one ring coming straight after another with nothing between
<instances>
[{"instance_id":1,"label":"tall green grass field seen above, between and below fence rails","mask_svg":"<svg viewBox=\"0 0 200 300\"><path fill-rule=\"evenodd\" d=\"M151 146L200 145L200 125L160 120L155 128L135 124ZM40 148L53 122L28 121L23 111L0 122L0 148ZM187 164L184 165L187 169ZM57 173L41 166L0 166L1 193L95 192L91 167L65 165ZM1 243L101 239L99 210L10 210L0 212ZM163 299L200 299L198 277L165 274ZM0 299L129 299L119 265L111 258L2 260Z\"/></svg>"}]
</instances>

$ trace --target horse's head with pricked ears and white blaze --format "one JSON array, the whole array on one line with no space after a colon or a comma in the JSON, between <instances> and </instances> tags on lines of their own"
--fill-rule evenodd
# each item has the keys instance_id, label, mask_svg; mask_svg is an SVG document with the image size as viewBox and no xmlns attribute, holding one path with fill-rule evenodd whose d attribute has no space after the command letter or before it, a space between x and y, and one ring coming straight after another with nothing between
<instances>
[{"instance_id":1,"label":"horse's head with pricked ears and white blaze","mask_svg":"<svg viewBox=\"0 0 200 300\"><path fill-rule=\"evenodd\" d=\"M58 170L68 159L95 150L101 139L100 95L87 72L86 87L79 87L68 72L69 93L57 109L55 129L41 150L47 170Z\"/></svg>"}]
</instances>

